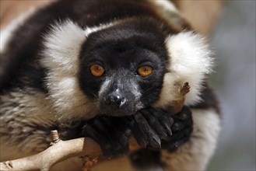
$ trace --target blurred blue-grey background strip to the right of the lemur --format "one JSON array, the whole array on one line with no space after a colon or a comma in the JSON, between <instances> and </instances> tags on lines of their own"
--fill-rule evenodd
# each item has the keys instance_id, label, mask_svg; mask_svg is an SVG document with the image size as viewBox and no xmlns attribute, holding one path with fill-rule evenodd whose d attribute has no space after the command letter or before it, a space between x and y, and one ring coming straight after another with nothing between
<instances>
[{"instance_id":1,"label":"blurred blue-grey background strip to the right of the lemur","mask_svg":"<svg viewBox=\"0 0 256 171\"><path fill-rule=\"evenodd\" d=\"M255 1L229 1L212 30L223 131L209 170L255 170Z\"/></svg>"}]
</instances>

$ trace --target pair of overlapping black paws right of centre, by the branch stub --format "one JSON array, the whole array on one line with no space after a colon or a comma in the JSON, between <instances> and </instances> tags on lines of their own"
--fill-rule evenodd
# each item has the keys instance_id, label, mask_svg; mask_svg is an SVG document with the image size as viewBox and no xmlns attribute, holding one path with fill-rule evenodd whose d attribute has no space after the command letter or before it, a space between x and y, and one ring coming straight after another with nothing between
<instances>
[{"instance_id":1,"label":"pair of overlapping black paws right of centre, by the branch stub","mask_svg":"<svg viewBox=\"0 0 256 171\"><path fill-rule=\"evenodd\" d=\"M188 106L177 114L149 107L135 113L130 128L139 145L174 150L188 141L192 124Z\"/></svg>"}]
</instances>

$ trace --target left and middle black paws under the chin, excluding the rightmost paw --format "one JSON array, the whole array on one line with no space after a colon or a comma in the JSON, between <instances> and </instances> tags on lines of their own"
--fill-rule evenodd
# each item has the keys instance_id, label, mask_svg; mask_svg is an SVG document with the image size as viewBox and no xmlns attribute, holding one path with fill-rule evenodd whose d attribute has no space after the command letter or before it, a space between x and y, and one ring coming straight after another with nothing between
<instances>
[{"instance_id":1,"label":"left and middle black paws under the chin, excluding the rightmost paw","mask_svg":"<svg viewBox=\"0 0 256 171\"><path fill-rule=\"evenodd\" d=\"M141 146L160 148L161 140L172 134L170 127L173 124L169 113L150 107L131 116L95 117L82 128L82 136L93 138L103 155L112 157L128 152L131 134Z\"/></svg>"}]
</instances>

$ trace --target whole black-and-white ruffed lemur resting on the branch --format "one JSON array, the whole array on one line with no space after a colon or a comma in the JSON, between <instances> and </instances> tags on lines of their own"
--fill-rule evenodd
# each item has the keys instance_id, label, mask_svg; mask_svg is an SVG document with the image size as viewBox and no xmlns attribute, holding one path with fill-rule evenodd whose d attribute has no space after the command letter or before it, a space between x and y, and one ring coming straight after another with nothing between
<instances>
[{"instance_id":1,"label":"whole black-and-white ruffed lemur resting on the branch","mask_svg":"<svg viewBox=\"0 0 256 171\"><path fill-rule=\"evenodd\" d=\"M1 160L40 152L57 129L107 157L134 136L135 168L203 170L220 131L212 53L170 1L74 0L1 30ZM181 111L172 104L188 82ZM79 158L56 166L75 169ZM68 167L67 167L68 166ZM121 168L120 168L121 169Z\"/></svg>"}]
</instances>

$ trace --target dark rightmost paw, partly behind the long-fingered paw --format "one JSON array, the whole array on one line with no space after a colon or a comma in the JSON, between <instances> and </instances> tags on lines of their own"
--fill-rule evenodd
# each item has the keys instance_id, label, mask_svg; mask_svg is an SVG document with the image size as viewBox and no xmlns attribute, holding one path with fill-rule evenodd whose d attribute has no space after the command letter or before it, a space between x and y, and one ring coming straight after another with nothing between
<instances>
[{"instance_id":1,"label":"dark rightmost paw, partly behind the long-fingered paw","mask_svg":"<svg viewBox=\"0 0 256 171\"><path fill-rule=\"evenodd\" d=\"M171 127L173 135L162 141L162 148L174 151L184 142L188 141L193 131L193 120L191 110L188 106L183 106L181 112L171 115L174 124Z\"/></svg>"}]
</instances>

